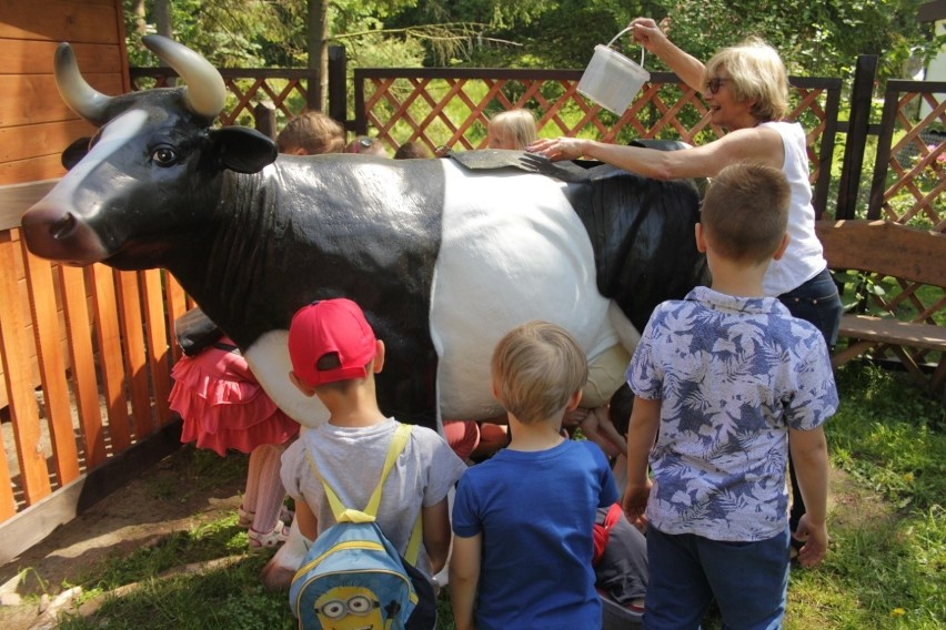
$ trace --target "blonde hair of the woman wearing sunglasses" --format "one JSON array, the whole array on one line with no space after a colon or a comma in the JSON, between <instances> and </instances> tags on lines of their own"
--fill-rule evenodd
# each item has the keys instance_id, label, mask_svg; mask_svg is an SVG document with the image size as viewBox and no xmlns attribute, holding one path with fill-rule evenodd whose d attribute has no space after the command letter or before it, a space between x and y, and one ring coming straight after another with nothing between
<instances>
[{"instance_id":1,"label":"blonde hair of the woman wearing sunglasses","mask_svg":"<svg viewBox=\"0 0 946 630\"><path fill-rule=\"evenodd\" d=\"M759 38L751 37L724 48L706 62L704 84L719 69L729 73L728 87L739 101L755 99L752 114L759 121L781 120L788 111L788 73L778 52Z\"/></svg>"}]
</instances>

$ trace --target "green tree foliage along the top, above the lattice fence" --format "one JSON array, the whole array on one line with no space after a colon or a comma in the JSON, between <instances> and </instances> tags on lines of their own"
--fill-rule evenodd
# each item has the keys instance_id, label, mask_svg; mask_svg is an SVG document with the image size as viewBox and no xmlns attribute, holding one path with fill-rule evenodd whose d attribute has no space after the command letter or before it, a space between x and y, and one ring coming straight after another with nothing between
<instances>
[{"instance_id":1,"label":"green tree foliage along the top, above the lattice fence","mask_svg":"<svg viewBox=\"0 0 946 630\"><path fill-rule=\"evenodd\" d=\"M946 44L946 35L916 20L923 1L336 0L329 21L331 41L349 49L354 65L583 68L595 44L648 16L670 17L671 38L697 59L756 34L782 52L792 74L848 78L866 53L879 55L884 79L912 74ZM153 2L145 1L152 32ZM135 41L132 3L124 0L131 64L154 64ZM305 0L173 0L173 30L220 67L300 67L308 58L306 7ZM633 48L630 39L615 45Z\"/></svg>"}]
</instances>

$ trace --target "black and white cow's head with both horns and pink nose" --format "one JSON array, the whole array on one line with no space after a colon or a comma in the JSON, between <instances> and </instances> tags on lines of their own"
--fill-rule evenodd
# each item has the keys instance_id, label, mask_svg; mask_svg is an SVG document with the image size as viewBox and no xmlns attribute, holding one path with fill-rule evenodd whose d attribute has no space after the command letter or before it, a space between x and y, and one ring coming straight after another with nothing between
<instances>
[{"instance_id":1,"label":"black and white cow's head with both horns and pink nose","mask_svg":"<svg viewBox=\"0 0 946 630\"><path fill-rule=\"evenodd\" d=\"M108 96L79 72L68 43L56 52L56 82L66 103L99 128L63 152L69 173L29 209L29 250L69 264L119 268L162 266L172 243L194 243L215 207L224 170L254 173L272 163L275 144L251 129L212 129L223 109L220 73L172 40L142 40L185 88Z\"/></svg>"}]
</instances>

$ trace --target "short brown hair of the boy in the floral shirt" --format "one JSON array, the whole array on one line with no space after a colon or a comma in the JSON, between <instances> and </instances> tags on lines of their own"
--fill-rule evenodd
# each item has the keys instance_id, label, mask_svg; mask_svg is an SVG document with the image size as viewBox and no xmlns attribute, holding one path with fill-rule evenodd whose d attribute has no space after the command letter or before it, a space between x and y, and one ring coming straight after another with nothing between
<instances>
[{"instance_id":1,"label":"short brown hair of the boy in the floral shirt","mask_svg":"<svg viewBox=\"0 0 946 630\"><path fill-rule=\"evenodd\" d=\"M713 248L732 261L761 263L782 245L792 193L785 174L762 164L732 164L713 179L700 223Z\"/></svg>"}]
</instances>

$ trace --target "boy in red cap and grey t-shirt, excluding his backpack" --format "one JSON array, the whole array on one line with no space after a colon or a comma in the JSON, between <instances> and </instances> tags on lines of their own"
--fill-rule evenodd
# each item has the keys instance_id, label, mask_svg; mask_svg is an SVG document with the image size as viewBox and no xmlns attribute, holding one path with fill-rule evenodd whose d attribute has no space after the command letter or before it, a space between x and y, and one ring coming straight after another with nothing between
<instances>
[{"instance_id":1,"label":"boy in red cap and grey t-shirt, excluding his backpack","mask_svg":"<svg viewBox=\"0 0 946 630\"><path fill-rule=\"evenodd\" d=\"M342 505L361 509L381 478L399 423L378 407L374 375L384 366L384 343L354 302L323 299L300 308L289 328L289 356L292 383L306 396L318 396L330 414L328 423L302 431L282 456L283 485L295 499L300 531L311 541L335 517L309 457ZM416 567L429 579L446 562L446 495L465 470L436 431L415 426L384 482L378 525L403 555L421 514Z\"/></svg>"}]
</instances>

